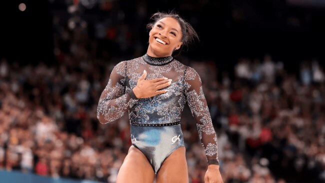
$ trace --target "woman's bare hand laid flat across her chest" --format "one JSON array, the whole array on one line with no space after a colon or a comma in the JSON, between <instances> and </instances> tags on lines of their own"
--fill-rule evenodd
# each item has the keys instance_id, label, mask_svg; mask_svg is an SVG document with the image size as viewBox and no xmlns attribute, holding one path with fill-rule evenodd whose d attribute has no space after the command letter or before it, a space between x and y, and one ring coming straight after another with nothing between
<instances>
[{"instance_id":1,"label":"woman's bare hand laid flat across her chest","mask_svg":"<svg viewBox=\"0 0 325 183\"><path fill-rule=\"evenodd\" d=\"M171 84L171 79L160 77L145 80L146 74L146 71L143 70L143 74L137 80L136 86L133 88L133 92L137 98L147 98L168 91L167 89L162 88L169 86Z\"/></svg>"}]
</instances>

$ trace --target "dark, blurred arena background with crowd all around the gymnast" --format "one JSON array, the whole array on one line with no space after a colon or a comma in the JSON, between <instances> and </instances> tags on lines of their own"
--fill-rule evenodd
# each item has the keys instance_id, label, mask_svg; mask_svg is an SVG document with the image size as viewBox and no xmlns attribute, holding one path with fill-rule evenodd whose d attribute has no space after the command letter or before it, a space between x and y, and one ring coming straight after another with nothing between
<instances>
[{"instance_id":1,"label":"dark, blurred arena background with crowd all around the gymnast","mask_svg":"<svg viewBox=\"0 0 325 183\"><path fill-rule=\"evenodd\" d=\"M115 182L129 121L100 124L99 95L114 65L146 52L150 15L175 10L200 38L176 59L202 78L224 182L325 182L325 1L7 0L0 10L3 181ZM203 182L187 106L182 128L189 180Z\"/></svg>"}]
</instances>

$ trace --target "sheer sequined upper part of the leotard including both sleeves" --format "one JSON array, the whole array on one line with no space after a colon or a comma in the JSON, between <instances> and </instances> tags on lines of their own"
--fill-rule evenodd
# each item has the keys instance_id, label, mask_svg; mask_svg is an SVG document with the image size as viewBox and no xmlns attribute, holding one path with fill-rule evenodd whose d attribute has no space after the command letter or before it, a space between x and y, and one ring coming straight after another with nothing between
<instances>
[{"instance_id":1,"label":"sheer sequined upper part of the leotard including both sleeves","mask_svg":"<svg viewBox=\"0 0 325 183\"><path fill-rule=\"evenodd\" d=\"M166 87L168 92L149 98L132 98L132 88L144 69L147 71L145 79L171 78L171 84ZM110 122L128 111L130 121L138 125L179 122L186 101L196 120L199 139L208 161L217 162L217 138L201 79L193 68L171 56L152 59L144 55L118 63L100 96L97 118L102 123ZM131 140L135 141L135 138Z\"/></svg>"}]
</instances>

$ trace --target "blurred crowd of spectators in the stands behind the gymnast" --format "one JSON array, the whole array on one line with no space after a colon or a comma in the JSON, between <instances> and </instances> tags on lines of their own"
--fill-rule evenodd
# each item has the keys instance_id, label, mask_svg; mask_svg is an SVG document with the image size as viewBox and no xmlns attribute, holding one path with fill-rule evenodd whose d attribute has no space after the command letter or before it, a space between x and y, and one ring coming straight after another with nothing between
<instances>
[{"instance_id":1,"label":"blurred crowd of spectators in the stands behind the gymnast","mask_svg":"<svg viewBox=\"0 0 325 183\"><path fill-rule=\"evenodd\" d=\"M113 66L146 48L130 44L135 35L123 24L98 24L91 37L82 22L60 21L53 18L54 64L0 60L0 169L115 182L131 144L128 115L100 124L97 102ZM177 59L201 76L224 182L325 182L318 60L297 61L294 74L270 54L239 58L232 77L213 61ZM189 180L203 182L205 153L187 106L181 120Z\"/></svg>"}]
</instances>

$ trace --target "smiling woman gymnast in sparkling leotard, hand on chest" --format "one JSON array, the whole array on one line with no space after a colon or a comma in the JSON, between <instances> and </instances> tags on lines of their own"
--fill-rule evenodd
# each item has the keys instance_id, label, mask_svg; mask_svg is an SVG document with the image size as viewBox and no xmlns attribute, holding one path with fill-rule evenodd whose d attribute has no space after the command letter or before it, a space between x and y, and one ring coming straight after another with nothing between
<instances>
[{"instance_id":1,"label":"smiling woman gymnast in sparkling leotard, hand on chest","mask_svg":"<svg viewBox=\"0 0 325 183\"><path fill-rule=\"evenodd\" d=\"M97 118L107 123L128 110L132 145L116 182L188 182L181 111L187 101L196 120L208 168L204 182L222 182L212 126L197 72L171 55L194 38L192 26L175 13L157 12L148 24L145 55L119 62L102 91ZM156 177L155 177L156 175Z\"/></svg>"}]
</instances>

